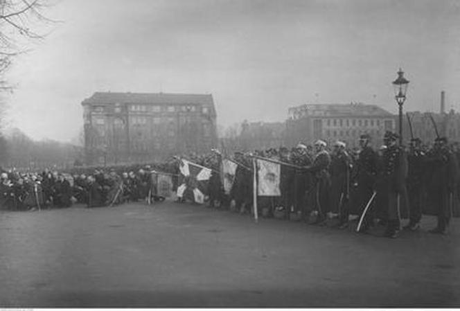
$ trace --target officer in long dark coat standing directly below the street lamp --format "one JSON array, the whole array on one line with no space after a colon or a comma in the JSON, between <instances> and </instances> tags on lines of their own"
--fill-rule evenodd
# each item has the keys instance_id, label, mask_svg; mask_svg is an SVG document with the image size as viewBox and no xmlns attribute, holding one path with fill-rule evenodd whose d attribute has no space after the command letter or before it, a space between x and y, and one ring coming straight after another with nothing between
<instances>
[{"instance_id":1,"label":"officer in long dark coat standing directly below the street lamp","mask_svg":"<svg viewBox=\"0 0 460 311\"><path fill-rule=\"evenodd\" d=\"M387 150L383 154L383 171L380 177L384 181L387 196L387 229L384 236L397 238L400 230L401 207L406 194L407 159L403 148L398 145L398 134L385 132L384 143Z\"/></svg>"}]
</instances>

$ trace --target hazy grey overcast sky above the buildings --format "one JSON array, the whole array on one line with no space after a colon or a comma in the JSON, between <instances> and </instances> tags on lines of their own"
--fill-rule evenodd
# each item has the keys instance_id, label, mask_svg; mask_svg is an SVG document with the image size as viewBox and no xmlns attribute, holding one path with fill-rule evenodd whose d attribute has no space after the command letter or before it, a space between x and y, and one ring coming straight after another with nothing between
<instances>
[{"instance_id":1,"label":"hazy grey overcast sky above the buildings","mask_svg":"<svg viewBox=\"0 0 460 311\"><path fill-rule=\"evenodd\" d=\"M10 125L69 141L95 91L213 94L218 123L283 121L304 103L460 110L460 1L60 0L62 23L16 60Z\"/></svg>"}]
</instances>

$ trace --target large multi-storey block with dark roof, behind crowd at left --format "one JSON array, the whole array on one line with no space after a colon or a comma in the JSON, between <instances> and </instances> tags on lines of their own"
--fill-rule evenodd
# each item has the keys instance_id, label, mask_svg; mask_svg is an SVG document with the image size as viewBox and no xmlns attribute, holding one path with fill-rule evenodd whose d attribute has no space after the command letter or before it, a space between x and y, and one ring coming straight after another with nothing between
<instances>
[{"instance_id":1,"label":"large multi-storey block with dark roof, behind crowd at left","mask_svg":"<svg viewBox=\"0 0 460 311\"><path fill-rule=\"evenodd\" d=\"M127 163L217 145L211 94L96 92L82 101L87 163Z\"/></svg>"}]
</instances>

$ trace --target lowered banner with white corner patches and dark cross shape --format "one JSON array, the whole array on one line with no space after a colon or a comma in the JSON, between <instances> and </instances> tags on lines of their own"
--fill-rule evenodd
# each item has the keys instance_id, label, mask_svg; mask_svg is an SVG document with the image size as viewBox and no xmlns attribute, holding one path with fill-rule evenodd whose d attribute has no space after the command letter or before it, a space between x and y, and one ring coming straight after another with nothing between
<instances>
[{"instance_id":1,"label":"lowered banner with white corner patches and dark cross shape","mask_svg":"<svg viewBox=\"0 0 460 311\"><path fill-rule=\"evenodd\" d=\"M179 170L177 197L203 204L205 197L209 195L211 169L182 159Z\"/></svg>"}]
</instances>

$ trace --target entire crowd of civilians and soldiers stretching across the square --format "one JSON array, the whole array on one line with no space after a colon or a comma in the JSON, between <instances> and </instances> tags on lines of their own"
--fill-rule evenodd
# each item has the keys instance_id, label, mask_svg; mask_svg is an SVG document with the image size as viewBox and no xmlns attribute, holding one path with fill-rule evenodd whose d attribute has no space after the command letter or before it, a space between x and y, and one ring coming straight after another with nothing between
<instances>
[{"instance_id":1,"label":"entire crowd of civilians and soldiers stretching across the square","mask_svg":"<svg viewBox=\"0 0 460 311\"><path fill-rule=\"evenodd\" d=\"M212 170L206 197L210 207L254 213L252 168L254 157L258 157L281 163L281 196L258 197L258 213L263 217L304 220L321 226L335 219L336 226L345 229L350 215L357 215L360 233L382 224L386 226L384 236L396 238L402 229L401 219L409 219L403 229L416 231L422 214L429 214L438 219L430 232L446 233L459 206L459 145L439 137L431 147L412 139L405 148L399 145L398 135L391 132L385 133L383 141L384 145L374 149L371 137L363 134L360 148L353 150L342 141L328 146L319 140L313 145L299 143L292 149L191 153L146 166L80 168L72 172L3 171L2 205L33 211L75 203L96 207L161 201L164 197L155 196L151 172L170 173L174 176L173 188L177 188L179 159L188 159ZM227 193L222 186L222 159L238 164Z\"/></svg>"}]
</instances>

